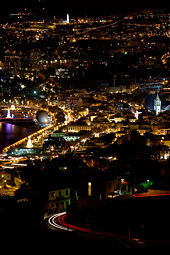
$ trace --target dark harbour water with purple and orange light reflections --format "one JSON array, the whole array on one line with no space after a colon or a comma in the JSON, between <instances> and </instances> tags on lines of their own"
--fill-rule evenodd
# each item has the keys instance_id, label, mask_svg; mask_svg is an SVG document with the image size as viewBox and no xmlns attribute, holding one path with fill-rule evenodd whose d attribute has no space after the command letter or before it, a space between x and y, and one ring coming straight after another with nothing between
<instances>
[{"instance_id":1,"label":"dark harbour water with purple and orange light reflections","mask_svg":"<svg viewBox=\"0 0 170 255\"><path fill-rule=\"evenodd\" d=\"M6 146L15 143L25 136L33 133L36 127L23 127L11 123L0 122L0 151Z\"/></svg>"}]
</instances>

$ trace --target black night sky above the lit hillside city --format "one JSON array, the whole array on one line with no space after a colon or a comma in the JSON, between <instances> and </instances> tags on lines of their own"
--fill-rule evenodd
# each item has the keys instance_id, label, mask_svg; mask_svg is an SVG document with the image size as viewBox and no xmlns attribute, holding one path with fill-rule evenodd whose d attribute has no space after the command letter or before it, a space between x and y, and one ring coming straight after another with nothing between
<instances>
[{"instance_id":1,"label":"black night sky above the lit hillside city","mask_svg":"<svg viewBox=\"0 0 170 255\"><path fill-rule=\"evenodd\" d=\"M105 15L126 13L144 8L168 8L166 0L1 0L0 13L8 13L20 8L31 7L34 10L46 7L53 15Z\"/></svg>"}]
</instances>

